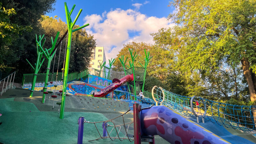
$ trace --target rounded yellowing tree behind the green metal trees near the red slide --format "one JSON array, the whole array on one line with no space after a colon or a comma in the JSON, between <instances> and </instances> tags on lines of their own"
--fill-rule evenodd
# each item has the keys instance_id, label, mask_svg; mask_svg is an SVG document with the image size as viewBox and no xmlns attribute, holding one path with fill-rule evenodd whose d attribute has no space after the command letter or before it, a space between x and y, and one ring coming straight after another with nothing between
<instances>
[{"instance_id":1,"label":"rounded yellowing tree behind the green metal trees near the red slide","mask_svg":"<svg viewBox=\"0 0 256 144\"><path fill-rule=\"evenodd\" d=\"M124 60L126 57L128 57L127 62L131 61L131 56L129 53L129 48L133 49L133 52L136 52L138 54L137 58L134 61L134 66L141 67L140 63L142 65L145 64L145 52L144 49L146 49L146 52L150 52L150 59L148 66L147 66L147 73L149 76L157 77L162 82L166 78L167 69L172 63L172 53L164 48L161 48L157 45L152 44L146 44L146 43L129 43L124 44L124 47L121 49L121 51L117 54L117 61L114 63L113 70L116 71L124 71L122 64L118 60L118 58L121 58L122 55L124 55ZM139 63L140 62L140 63ZM128 64L127 64L128 65ZM127 68L127 67L126 67Z\"/></svg>"}]
</instances>

